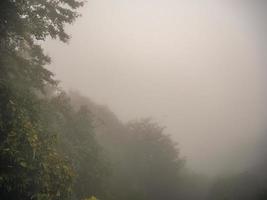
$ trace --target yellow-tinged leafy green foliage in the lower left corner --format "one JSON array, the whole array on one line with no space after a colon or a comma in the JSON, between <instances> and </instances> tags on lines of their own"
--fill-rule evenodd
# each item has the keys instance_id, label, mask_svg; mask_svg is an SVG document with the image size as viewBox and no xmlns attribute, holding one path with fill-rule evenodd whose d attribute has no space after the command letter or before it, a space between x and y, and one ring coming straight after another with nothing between
<instances>
[{"instance_id":1,"label":"yellow-tinged leafy green foliage in the lower left corner","mask_svg":"<svg viewBox=\"0 0 267 200\"><path fill-rule=\"evenodd\" d=\"M70 196L73 172L57 153L55 133L49 132L42 120L42 101L33 94L17 94L10 96L7 104L2 100L0 105L0 161L4 163L0 168L1 199Z\"/></svg>"}]
</instances>

